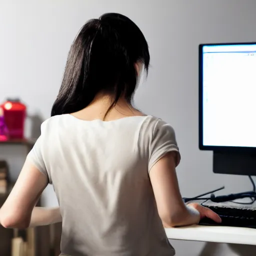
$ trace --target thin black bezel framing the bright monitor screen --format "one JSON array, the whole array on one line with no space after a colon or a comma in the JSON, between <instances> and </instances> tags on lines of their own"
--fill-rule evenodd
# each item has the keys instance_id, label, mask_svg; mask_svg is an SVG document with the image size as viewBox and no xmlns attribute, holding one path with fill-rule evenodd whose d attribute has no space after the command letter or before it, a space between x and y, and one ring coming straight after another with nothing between
<instances>
[{"instance_id":1,"label":"thin black bezel framing the bright monitor screen","mask_svg":"<svg viewBox=\"0 0 256 256\"><path fill-rule=\"evenodd\" d=\"M256 153L256 147L247 146L216 146L216 145L203 145L203 46L214 45L246 45L256 44L256 41L250 42L223 42L223 43L200 43L198 46L198 131L199 131L199 149L200 150L215 150L215 151L240 151L240 152L253 152Z\"/></svg>"}]
</instances>

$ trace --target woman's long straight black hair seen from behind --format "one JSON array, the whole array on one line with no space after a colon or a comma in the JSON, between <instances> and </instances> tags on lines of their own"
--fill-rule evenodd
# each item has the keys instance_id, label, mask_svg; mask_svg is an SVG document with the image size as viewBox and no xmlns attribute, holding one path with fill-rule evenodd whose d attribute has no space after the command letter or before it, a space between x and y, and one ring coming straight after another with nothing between
<instances>
[{"instance_id":1,"label":"woman's long straight black hair seen from behind","mask_svg":"<svg viewBox=\"0 0 256 256\"><path fill-rule=\"evenodd\" d=\"M98 92L113 95L105 116L120 96L131 103L138 77L134 64L141 61L147 73L149 59L145 37L128 17L106 13L88 20L70 47L51 116L83 109Z\"/></svg>"}]
</instances>

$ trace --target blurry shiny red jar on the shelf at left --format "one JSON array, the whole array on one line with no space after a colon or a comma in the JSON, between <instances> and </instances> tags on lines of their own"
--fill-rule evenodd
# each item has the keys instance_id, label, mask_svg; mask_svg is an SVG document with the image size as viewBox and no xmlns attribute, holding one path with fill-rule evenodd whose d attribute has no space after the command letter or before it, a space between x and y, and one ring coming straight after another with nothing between
<instances>
[{"instance_id":1,"label":"blurry shiny red jar on the shelf at left","mask_svg":"<svg viewBox=\"0 0 256 256\"><path fill-rule=\"evenodd\" d=\"M19 99L7 99L2 105L5 124L9 139L24 138L26 106Z\"/></svg>"}]
</instances>

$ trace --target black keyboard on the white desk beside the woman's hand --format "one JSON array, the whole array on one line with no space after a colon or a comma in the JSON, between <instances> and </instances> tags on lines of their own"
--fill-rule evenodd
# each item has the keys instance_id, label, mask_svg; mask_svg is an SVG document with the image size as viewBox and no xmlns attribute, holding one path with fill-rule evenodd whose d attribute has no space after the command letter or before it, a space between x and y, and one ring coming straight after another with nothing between
<instances>
[{"instance_id":1,"label":"black keyboard on the white desk beside the woman's hand","mask_svg":"<svg viewBox=\"0 0 256 256\"><path fill-rule=\"evenodd\" d=\"M215 203L206 201L203 206L216 212L222 222L215 223L211 219L201 219L201 225L221 225L256 228L256 206L254 204L237 204L234 202Z\"/></svg>"}]
</instances>

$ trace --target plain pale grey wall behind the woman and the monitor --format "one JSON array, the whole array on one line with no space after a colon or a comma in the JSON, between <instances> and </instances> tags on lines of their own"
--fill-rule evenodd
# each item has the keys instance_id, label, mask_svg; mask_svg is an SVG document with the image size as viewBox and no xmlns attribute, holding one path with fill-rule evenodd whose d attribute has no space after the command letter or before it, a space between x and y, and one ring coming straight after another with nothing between
<instances>
[{"instance_id":1,"label":"plain pale grey wall behind the woman and the monitor","mask_svg":"<svg viewBox=\"0 0 256 256\"><path fill-rule=\"evenodd\" d=\"M249 189L247 177L213 174L212 153L198 150L197 46L255 40L255 10L255 0L0 0L0 102L6 96L19 96L30 115L49 117L78 29L104 12L126 14L143 31L151 53L149 76L135 103L175 128L182 155L177 169L182 194L196 195L223 184L225 192ZM12 153L14 173L22 158L13 150L0 149L0 156ZM44 199L52 205L55 197L48 189ZM173 244L182 256L199 255L204 246ZM245 255L224 245L214 253Z\"/></svg>"}]
</instances>

